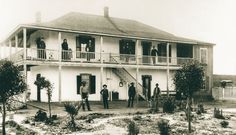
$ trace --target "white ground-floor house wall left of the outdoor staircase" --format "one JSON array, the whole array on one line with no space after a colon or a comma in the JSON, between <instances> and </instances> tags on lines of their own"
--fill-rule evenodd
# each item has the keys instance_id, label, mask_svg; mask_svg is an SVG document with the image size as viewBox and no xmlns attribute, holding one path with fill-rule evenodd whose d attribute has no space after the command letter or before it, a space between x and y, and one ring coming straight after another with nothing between
<instances>
[{"instance_id":1,"label":"white ground-floor house wall left of the outdoor staircase","mask_svg":"<svg viewBox=\"0 0 236 135\"><path fill-rule=\"evenodd\" d=\"M101 90L101 76L100 68L84 68L84 67L62 67L61 72L61 95L62 101L76 101L81 100L81 96L77 94L76 77L80 74L91 74L96 76L96 93L89 96L90 100L100 100ZM37 100L37 87L34 85L36 75L41 74L48 79L54 86L52 93L52 101L59 100L59 71L57 66L35 66L31 67L28 73L28 84L31 90L31 99ZM119 92L119 99L127 99L127 85L119 87L120 78L112 73L111 69L103 70L102 84L107 84L110 92ZM41 91L41 100L47 101L46 91Z\"/></svg>"}]
</instances>

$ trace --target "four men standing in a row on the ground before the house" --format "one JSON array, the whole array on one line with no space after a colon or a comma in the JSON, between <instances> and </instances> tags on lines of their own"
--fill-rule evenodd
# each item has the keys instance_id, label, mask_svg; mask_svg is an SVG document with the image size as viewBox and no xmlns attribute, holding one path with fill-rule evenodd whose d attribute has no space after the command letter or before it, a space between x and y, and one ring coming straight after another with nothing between
<instances>
[{"instance_id":1,"label":"four men standing in a row on the ground before the house","mask_svg":"<svg viewBox=\"0 0 236 135\"><path fill-rule=\"evenodd\" d=\"M152 102L154 102L154 106L152 107L152 109L154 112L159 111L158 107L159 107L160 92L161 90L159 88L159 84L156 83L156 87L154 88L153 96L152 96L153 97ZM81 83L81 86L80 86L80 94L81 94L81 99L82 99L81 103L82 103L83 110L85 110L85 105L86 105L88 111L92 111L90 108L89 101L88 101L88 97L89 97L88 85L84 81ZM109 104L108 104L109 92L108 92L106 84L103 85L103 88L101 89L100 94L102 95L104 109L109 109ZM133 82L129 86L128 96L129 96L129 99L128 99L127 107L133 107L134 98L136 96L136 88L134 87Z\"/></svg>"}]
</instances>

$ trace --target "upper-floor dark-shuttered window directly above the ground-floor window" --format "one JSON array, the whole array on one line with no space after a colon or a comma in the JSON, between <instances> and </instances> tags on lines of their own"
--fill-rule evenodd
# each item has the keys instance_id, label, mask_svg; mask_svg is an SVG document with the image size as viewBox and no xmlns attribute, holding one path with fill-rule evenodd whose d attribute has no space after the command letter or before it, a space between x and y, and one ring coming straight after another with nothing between
<instances>
[{"instance_id":1,"label":"upper-floor dark-shuttered window directly above the ground-floor window","mask_svg":"<svg viewBox=\"0 0 236 135\"><path fill-rule=\"evenodd\" d=\"M89 48L89 49L88 49ZM95 58L95 38L90 36L76 37L76 58L86 58L85 52L91 53L90 58Z\"/></svg>"}]
</instances>

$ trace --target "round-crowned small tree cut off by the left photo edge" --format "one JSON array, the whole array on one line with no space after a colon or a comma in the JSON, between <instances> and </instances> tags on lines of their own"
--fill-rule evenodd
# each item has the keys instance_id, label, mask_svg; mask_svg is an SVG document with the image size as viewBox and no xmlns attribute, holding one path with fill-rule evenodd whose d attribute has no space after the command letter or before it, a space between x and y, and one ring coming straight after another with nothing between
<instances>
[{"instance_id":1,"label":"round-crowned small tree cut off by the left photo edge","mask_svg":"<svg viewBox=\"0 0 236 135\"><path fill-rule=\"evenodd\" d=\"M27 89L24 77L19 66L10 61L4 61L0 65L0 101L2 102L2 134L6 134L6 104L9 98L23 93Z\"/></svg>"}]
</instances>

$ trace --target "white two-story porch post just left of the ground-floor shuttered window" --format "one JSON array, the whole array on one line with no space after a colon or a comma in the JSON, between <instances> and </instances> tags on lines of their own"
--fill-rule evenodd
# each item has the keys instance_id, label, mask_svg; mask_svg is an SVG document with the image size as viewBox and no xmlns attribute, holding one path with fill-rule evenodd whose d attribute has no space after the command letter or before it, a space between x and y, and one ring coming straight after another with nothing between
<instances>
[{"instance_id":1,"label":"white two-story porch post just left of the ground-floor shuttered window","mask_svg":"<svg viewBox=\"0 0 236 135\"><path fill-rule=\"evenodd\" d=\"M58 32L58 100L61 103L61 32Z\"/></svg>"}]
</instances>

